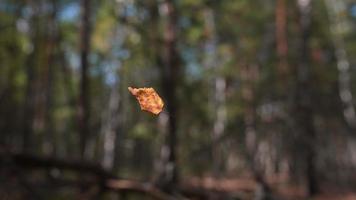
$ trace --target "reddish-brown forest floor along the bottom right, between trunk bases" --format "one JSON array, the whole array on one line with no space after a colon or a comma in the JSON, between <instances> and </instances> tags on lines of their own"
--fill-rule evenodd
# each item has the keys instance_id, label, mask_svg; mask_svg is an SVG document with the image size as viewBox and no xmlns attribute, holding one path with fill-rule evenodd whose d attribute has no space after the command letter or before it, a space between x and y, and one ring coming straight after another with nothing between
<instances>
[{"instance_id":1,"label":"reddish-brown forest floor along the bottom right, between trunk bases","mask_svg":"<svg viewBox=\"0 0 356 200\"><path fill-rule=\"evenodd\" d=\"M268 180L268 183L272 188L273 196L277 200L356 200L356 189L336 184L324 184L321 186L320 194L313 198L308 198L303 186L288 184L283 178L272 178ZM242 199L253 199L253 193L256 188L256 182L251 177L234 179L194 177L184 179L183 185L234 194Z\"/></svg>"}]
</instances>

